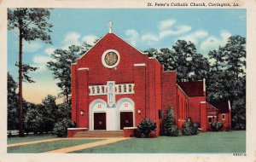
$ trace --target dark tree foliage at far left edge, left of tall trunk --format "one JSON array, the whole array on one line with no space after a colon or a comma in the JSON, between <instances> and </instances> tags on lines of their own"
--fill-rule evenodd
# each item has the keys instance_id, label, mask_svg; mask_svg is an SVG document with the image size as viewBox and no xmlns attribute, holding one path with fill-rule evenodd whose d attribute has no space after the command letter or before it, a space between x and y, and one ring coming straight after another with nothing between
<instances>
[{"instance_id":1,"label":"dark tree foliage at far left edge, left of tall trunk","mask_svg":"<svg viewBox=\"0 0 256 162\"><path fill-rule=\"evenodd\" d=\"M16 130L18 129L18 95L16 94L17 83L14 78L8 74L8 88L7 88L7 108L8 108L8 130Z\"/></svg>"}]
</instances>

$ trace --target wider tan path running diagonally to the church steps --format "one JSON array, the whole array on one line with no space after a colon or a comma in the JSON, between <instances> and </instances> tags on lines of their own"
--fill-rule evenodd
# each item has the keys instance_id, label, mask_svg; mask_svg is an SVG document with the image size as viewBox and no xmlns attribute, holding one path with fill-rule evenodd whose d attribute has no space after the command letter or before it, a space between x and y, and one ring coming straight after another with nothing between
<instances>
[{"instance_id":1,"label":"wider tan path running diagonally to the church steps","mask_svg":"<svg viewBox=\"0 0 256 162\"><path fill-rule=\"evenodd\" d=\"M84 138L69 138L69 139L75 140L75 139L84 139ZM92 139L92 138L86 138L86 139ZM96 139L101 139L101 138L96 138ZM104 138L104 139L105 140L102 140L100 142L91 142L91 143L77 145L77 146L73 146L73 147L69 147L69 148L55 149L55 150L51 150L51 151L48 151L45 153L69 153L69 152L74 152L74 151L78 151L78 150L82 150L82 149L86 149L86 148L93 148L93 147L97 147L97 146L107 145L107 144L113 143L113 142L120 142L123 140L128 140L130 138L116 137L116 138Z\"/></svg>"}]
</instances>

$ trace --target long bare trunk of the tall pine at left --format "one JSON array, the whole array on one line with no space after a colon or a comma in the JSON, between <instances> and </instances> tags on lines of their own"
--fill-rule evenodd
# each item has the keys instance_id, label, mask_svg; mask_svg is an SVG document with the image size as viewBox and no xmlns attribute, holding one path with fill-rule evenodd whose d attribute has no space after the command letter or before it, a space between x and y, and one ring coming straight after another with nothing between
<instances>
[{"instance_id":1,"label":"long bare trunk of the tall pine at left","mask_svg":"<svg viewBox=\"0 0 256 162\"><path fill-rule=\"evenodd\" d=\"M19 136L24 136L24 119L23 119L23 105L22 105L22 29L20 28L19 35L19 109L20 109L20 131Z\"/></svg>"}]
</instances>

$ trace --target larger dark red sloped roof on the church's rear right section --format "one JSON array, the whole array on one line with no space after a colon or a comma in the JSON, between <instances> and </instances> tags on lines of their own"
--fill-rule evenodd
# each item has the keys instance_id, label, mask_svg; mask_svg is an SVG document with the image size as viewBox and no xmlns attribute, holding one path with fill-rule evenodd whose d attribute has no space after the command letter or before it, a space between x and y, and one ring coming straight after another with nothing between
<instances>
[{"instance_id":1,"label":"larger dark red sloped roof on the church's rear right section","mask_svg":"<svg viewBox=\"0 0 256 162\"><path fill-rule=\"evenodd\" d=\"M204 95L204 84L203 81L197 82L178 82L181 89L190 96L203 96Z\"/></svg>"}]
</instances>

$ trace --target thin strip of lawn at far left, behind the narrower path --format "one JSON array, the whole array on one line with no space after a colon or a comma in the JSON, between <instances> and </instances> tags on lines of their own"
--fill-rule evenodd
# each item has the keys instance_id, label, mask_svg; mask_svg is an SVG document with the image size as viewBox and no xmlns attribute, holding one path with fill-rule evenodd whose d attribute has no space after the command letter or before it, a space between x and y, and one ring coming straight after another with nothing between
<instances>
[{"instance_id":1,"label":"thin strip of lawn at far left, behind the narrower path","mask_svg":"<svg viewBox=\"0 0 256 162\"><path fill-rule=\"evenodd\" d=\"M39 141L39 140L46 140L50 138L56 138L56 136L54 135L41 135L41 136L28 135L24 137L14 136L14 137L8 137L7 144L20 143L20 142L33 142L33 141Z\"/></svg>"}]
</instances>

